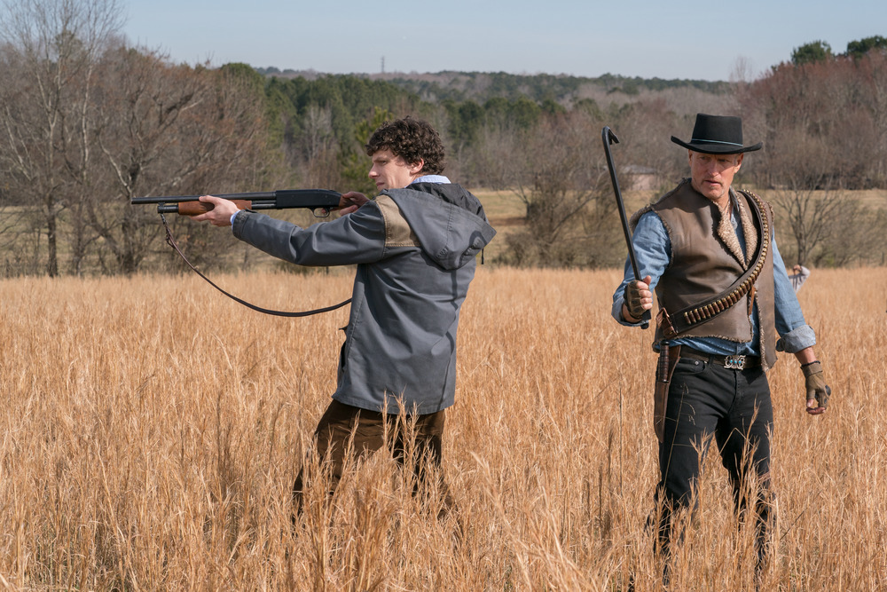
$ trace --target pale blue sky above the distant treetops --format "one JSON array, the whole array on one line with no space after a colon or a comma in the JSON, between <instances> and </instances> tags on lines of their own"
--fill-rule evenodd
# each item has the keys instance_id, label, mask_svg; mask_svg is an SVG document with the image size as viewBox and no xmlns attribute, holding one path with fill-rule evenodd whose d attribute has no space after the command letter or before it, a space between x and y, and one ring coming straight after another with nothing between
<instances>
[{"instance_id":1,"label":"pale blue sky above the distant treetops","mask_svg":"<svg viewBox=\"0 0 887 592\"><path fill-rule=\"evenodd\" d=\"M883 0L122 0L130 43L179 63L313 68L335 74L462 70L757 76L816 40L835 52L887 36Z\"/></svg>"}]
</instances>

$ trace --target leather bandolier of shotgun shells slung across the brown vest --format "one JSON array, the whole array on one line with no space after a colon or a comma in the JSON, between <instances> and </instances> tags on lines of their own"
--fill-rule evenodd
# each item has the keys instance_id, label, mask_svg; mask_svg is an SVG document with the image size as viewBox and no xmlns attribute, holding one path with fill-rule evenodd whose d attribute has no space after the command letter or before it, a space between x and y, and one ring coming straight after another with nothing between
<instances>
[{"instance_id":1,"label":"leather bandolier of shotgun shells slung across the brown vest","mask_svg":"<svg viewBox=\"0 0 887 592\"><path fill-rule=\"evenodd\" d=\"M754 294L757 276L764 269L764 262L770 251L770 223L767 221L764 201L757 194L750 191L743 190L740 193L744 193L751 198L750 209L752 214L757 217L757 226L761 230L761 240L758 241L754 264L749 265L749 268L742 276L730 288L727 288L718 296L711 297L699 304L687 306L687 308L674 314L670 314L664 309L661 310L661 326L665 337L671 339L689 328L712 320L721 312L740 302L749 292Z\"/></svg>"}]
</instances>

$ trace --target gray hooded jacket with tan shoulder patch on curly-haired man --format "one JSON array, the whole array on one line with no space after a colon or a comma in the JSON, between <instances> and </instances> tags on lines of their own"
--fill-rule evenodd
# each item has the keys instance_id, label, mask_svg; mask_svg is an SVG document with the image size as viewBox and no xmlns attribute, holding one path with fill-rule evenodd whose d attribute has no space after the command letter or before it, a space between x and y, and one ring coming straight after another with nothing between
<instances>
[{"instance_id":1,"label":"gray hooded jacket with tan shoulder patch on curly-haired man","mask_svg":"<svg viewBox=\"0 0 887 592\"><path fill-rule=\"evenodd\" d=\"M459 308L496 233L474 195L413 183L325 224L241 211L233 230L294 264L357 264L334 399L386 413L398 412L397 399L418 414L453 404Z\"/></svg>"}]
</instances>

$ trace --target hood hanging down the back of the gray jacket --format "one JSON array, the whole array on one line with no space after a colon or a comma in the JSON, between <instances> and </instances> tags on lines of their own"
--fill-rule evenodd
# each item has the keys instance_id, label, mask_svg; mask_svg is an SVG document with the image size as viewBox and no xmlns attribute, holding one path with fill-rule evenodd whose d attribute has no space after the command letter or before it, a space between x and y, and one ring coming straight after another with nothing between
<instances>
[{"instance_id":1,"label":"hood hanging down the back of the gray jacket","mask_svg":"<svg viewBox=\"0 0 887 592\"><path fill-rule=\"evenodd\" d=\"M422 250L443 269L459 269L492 240L496 231L478 199L461 185L414 183L389 189Z\"/></svg>"}]
</instances>

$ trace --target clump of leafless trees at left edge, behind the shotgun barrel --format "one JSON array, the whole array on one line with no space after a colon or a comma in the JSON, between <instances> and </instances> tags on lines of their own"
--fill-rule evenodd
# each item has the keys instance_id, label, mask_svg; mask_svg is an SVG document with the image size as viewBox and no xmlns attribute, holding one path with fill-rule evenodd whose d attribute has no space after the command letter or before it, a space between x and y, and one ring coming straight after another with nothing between
<instances>
[{"instance_id":1,"label":"clump of leafless trees at left edge, behind the shotgun barrel","mask_svg":"<svg viewBox=\"0 0 887 592\"><path fill-rule=\"evenodd\" d=\"M87 260L136 271L160 236L156 217L129 204L139 193L225 193L283 170L267 146L263 79L252 68L174 67L126 47L115 0L3 7L3 198L39 212L46 241L27 252L45 253L50 275L60 252L75 273Z\"/></svg>"}]
</instances>

